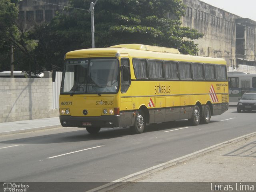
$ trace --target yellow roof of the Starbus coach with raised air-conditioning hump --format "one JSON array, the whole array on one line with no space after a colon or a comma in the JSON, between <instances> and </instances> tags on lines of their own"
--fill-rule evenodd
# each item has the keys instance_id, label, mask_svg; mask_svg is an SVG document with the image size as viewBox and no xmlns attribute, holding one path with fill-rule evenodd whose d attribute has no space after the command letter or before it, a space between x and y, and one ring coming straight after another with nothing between
<instances>
[{"instance_id":1,"label":"yellow roof of the Starbus coach with raised air-conditioning hump","mask_svg":"<svg viewBox=\"0 0 256 192\"><path fill-rule=\"evenodd\" d=\"M180 54L180 52L178 52L178 50L176 49L148 46L148 45L142 45L142 44L120 44L120 45L115 45L108 48L90 48L90 49L75 50L75 51L68 52L65 55L64 59L119 57L119 56L226 65L226 61L222 58L184 55L184 54Z\"/></svg>"}]
</instances>

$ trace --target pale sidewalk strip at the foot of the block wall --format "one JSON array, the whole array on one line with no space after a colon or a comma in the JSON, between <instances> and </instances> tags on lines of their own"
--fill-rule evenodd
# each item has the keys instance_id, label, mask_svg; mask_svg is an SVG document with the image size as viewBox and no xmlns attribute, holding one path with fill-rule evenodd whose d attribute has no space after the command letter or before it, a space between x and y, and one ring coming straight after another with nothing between
<instances>
[{"instance_id":1,"label":"pale sidewalk strip at the foot of the block wall","mask_svg":"<svg viewBox=\"0 0 256 192\"><path fill-rule=\"evenodd\" d=\"M0 123L0 136L61 127L59 117Z\"/></svg>"}]
</instances>

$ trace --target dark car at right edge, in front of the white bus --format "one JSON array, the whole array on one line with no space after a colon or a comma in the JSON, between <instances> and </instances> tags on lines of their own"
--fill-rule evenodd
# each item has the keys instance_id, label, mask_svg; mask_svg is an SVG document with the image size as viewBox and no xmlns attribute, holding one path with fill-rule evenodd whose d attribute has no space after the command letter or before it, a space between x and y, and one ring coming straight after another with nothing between
<instances>
[{"instance_id":1,"label":"dark car at right edge, in front of the white bus","mask_svg":"<svg viewBox=\"0 0 256 192\"><path fill-rule=\"evenodd\" d=\"M256 92L245 92L237 104L237 112L256 110Z\"/></svg>"}]
</instances>

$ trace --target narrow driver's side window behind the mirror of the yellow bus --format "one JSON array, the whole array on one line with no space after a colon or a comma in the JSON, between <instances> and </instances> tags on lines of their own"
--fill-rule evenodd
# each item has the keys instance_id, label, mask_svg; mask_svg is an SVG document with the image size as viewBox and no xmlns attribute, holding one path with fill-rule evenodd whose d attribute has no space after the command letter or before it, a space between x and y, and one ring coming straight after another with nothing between
<instances>
[{"instance_id":1,"label":"narrow driver's side window behind the mirror of the yellow bus","mask_svg":"<svg viewBox=\"0 0 256 192\"><path fill-rule=\"evenodd\" d=\"M124 69L128 70L124 70ZM129 72L128 74L124 74L124 72ZM124 76L127 77L128 80L124 79ZM130 61L128 58L121 58L121 93L127 92L128 88L131 84L131 75L130 75Z\"/></svg>"}]
</instances>

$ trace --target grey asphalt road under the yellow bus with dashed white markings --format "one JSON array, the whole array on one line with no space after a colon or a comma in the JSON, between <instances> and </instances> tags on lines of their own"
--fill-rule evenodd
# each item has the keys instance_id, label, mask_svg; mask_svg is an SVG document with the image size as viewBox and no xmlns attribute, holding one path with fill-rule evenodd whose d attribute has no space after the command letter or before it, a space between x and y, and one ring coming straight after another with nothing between
<instances>
[{"instance_id":1,"label":"grey asphalt road under the yellow bus with dashed white markings","mask_svg":"<svg viewBox=\"0 0 256 192\"><path fill-rule=\"evenodd\" d=\"M255 132L255 114L230 107L207 125L166 122L137 135L129 128L103 128L97 136L58 128L0 136L0 182L111 182Z\"/></svg>"}]
</instances>

